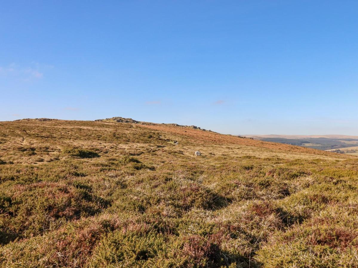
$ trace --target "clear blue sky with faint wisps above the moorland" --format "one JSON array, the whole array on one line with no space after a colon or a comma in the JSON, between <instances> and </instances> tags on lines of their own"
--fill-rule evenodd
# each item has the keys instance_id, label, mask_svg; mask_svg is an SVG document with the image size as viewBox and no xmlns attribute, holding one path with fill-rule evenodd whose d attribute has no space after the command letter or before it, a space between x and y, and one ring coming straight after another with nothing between
<instances>
[{"instance_id":1,"label":"clear blue sky with faint wisps above the moorland","mask_svg":"<svg viewBox=\"0 0 358 268\"><path fill-rule=\"evenodd\" d=\"M358 1L2 1L0 121L358 135Z\"/></svg>"}]
</instances>

